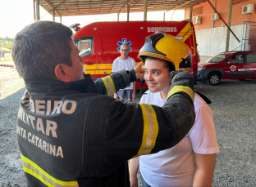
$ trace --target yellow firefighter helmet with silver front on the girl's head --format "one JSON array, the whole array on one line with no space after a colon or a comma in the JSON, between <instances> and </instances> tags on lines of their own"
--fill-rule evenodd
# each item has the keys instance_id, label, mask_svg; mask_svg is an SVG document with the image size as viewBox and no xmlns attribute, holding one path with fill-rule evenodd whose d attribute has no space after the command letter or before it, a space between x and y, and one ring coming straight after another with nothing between
<instances>
[{"instance_id":1,"label":"yellow firefighter helmet with silver front on the girl's head","mask_svg":"<svg viewBox=\"0 0 256 187\"><path fill-rule=\"evenodd\" d=\"M138 58L144 63L147 56L170 61L173 70L191 67L190 47L169 34L155 33L147 37Z\"/></svg>"}]
</instances>

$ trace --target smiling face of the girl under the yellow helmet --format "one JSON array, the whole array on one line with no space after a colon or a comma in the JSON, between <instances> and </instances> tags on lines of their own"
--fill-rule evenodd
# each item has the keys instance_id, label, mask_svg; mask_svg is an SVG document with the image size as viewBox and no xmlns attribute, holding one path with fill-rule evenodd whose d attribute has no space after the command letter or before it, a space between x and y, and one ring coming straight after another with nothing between
<instances>
[{"instance_id":1,"label":"smiling face of the girl under the yellow helmet","mask_svg":"<svg viewBox=\"0 0 256 187\"><path fill-rule=\"evenodd\" d=\"M150 92L168 93L171 87L170 71L162 60L147 59L144 64L144 79Z\"/></svg>"}]
</instances>

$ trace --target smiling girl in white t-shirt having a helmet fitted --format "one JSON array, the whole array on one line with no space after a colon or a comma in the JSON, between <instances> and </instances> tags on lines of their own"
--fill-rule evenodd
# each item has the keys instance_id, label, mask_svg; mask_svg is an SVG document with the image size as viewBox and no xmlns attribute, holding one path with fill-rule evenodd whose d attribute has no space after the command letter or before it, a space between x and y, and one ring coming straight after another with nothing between
<instances>
[{"instance_id":1,"label":"smiling girl in white t-shirt having a helmet fitted","mask_svg":"<svg viewBox=\"0 0 256 187\"><path fill-rule=\"evenodd\" d=\"M175 50L179 51L179 47ZM149 86L140 103L162 106L171 86L170 73L175 69L171 60L151 56L156 57L153 53L140 56L144 61L144 79ZM138 186L138 167L144 187L212 186L216 154L219 152L213 112L197 93L194 93L194 109L194 126L175 147L130 160L130 186Z\"/></svg>"}]
</instances>

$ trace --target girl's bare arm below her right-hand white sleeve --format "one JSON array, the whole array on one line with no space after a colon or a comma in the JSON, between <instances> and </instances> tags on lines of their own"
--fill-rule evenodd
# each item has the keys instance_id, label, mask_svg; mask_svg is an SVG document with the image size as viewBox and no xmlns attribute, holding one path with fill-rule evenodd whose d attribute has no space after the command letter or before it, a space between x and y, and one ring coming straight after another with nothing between
<instances>
[{"instance_id":1,"label":"girl's bare arm below her right-hand white sleeve","mask_svg":"<svg viewBox=\"0 0 256 187\"><path fill-rule=\"evenodd\" d=\"M212 186L217 154L195 154L193 186Z\"/></svg>"}]
</instances>

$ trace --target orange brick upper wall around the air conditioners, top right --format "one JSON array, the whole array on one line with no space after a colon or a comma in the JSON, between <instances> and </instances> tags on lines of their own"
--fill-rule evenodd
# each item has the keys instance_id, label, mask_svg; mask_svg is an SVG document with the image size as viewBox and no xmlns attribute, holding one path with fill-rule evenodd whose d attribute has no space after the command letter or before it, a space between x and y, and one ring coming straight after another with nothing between
<instances>
[{"instance_id":1,"label":"orange brick upper wall around the air conditioners, top right","mask_svg":"<svg viewBox=\"0 0 256 187\"><path fill-rule=\"evenodd\" d=\"M213 4L213 0L210 0ZM217 0L216 1L216 9L219 14L221 14L222 19L227 22L228 17L228 10L229 10L229 3L230 0ZM256 11L254 14L243 15L242 14L242 7L244 5L254 4L256 7L256 0L233 0L233 7L232 7L232 17L231 17L231 25L235 24L244 24L244 21L255 21L256 22ZM203 9L203 11L200 11ZM210 6L208 2L202 2L199 5L195 5L193 7L193 16L202 16L202 23L201 24L194 24L195 30L200 29L210 29L212 28L212 20L211 16L213 14L213 8ZM190 8L185 10L185 19L190 19ZM214 27L221 27L225 26L222 20L216 20L214 23Z\"/></svg>"}]
</instances>

